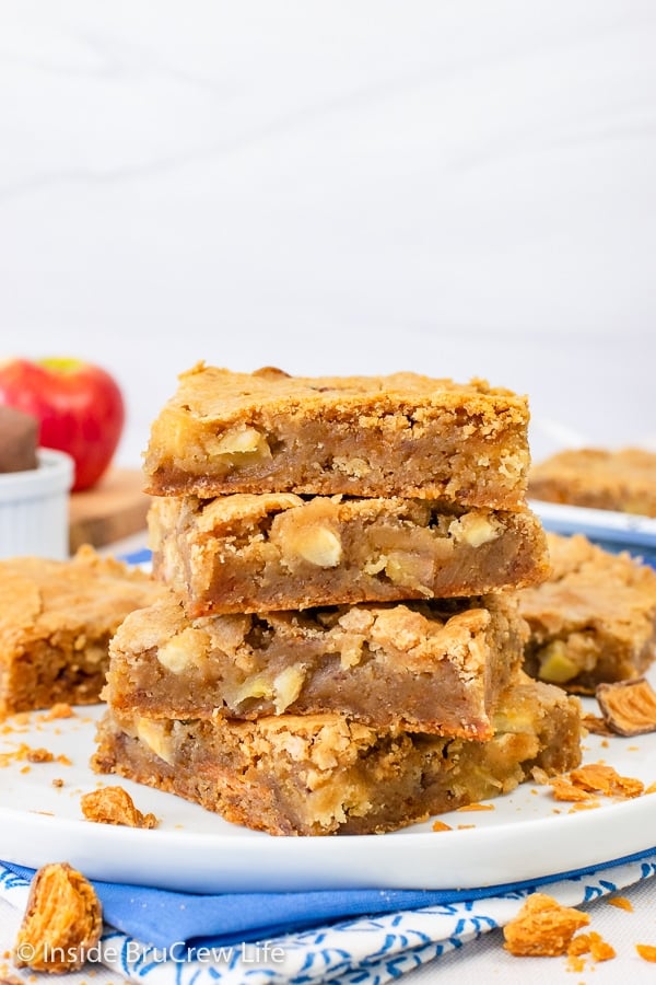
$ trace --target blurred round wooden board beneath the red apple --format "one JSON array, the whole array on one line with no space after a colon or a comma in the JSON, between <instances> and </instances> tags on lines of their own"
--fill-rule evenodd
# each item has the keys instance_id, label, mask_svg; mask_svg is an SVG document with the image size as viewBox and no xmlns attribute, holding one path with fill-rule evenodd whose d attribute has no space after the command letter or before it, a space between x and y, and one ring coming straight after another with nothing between
<instances>
[{"instance_id":1,"label":"blurred round wooden board beneath the red apple","mask_svg":"<svg viewBox=\"0 0 656 985\"><path fill-rule=\"evenodd\" d=\"M71 554L81 544L105 547L145 531L150 500L151 497L143 493L143 474L139 468L110 470L93 489L71 494Z\"/></svg>"}]
</instances>

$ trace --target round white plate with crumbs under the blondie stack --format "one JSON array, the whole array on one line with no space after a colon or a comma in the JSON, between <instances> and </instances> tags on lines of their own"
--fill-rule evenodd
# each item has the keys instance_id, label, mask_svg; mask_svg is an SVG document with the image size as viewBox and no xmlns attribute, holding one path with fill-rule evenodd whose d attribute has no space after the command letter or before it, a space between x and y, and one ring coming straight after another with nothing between
<instances>
[{"instance_id":1,"label":"round white plate with crumbs under the blondie stack","mask_svg":"<svg viewBox=\"0 0 656 985\"><path fill-rule=\"evenodd\" d=\"M598 711L594 699L584 703ZM549 787L524 784L489 811L441 815L386 835L272 837L229 824L180 798L89 767L99 708L75 717L27 722L0 737L0 855L38 867L67 860L93 879L188 892L300 891L337 888L469 889L550 877L648 849L656 796L572 811ZM55 761L28 763L21 749L44 748ZM63 757L58 760L58 757ZM584 761L656 781L656 734L606 740L589 735ZM55 786L54 780L63 780ZM119 781L160 825L150 831L94 824L80 797ZM462 827L458 827L462 825Z\"/></svg>"}]
</instances>

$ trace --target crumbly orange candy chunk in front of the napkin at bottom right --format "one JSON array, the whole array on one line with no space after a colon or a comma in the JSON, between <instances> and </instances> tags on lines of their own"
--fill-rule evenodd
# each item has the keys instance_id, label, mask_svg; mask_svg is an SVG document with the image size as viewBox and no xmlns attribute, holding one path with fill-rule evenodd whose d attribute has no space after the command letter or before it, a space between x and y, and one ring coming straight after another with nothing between
<instances>
[{"instance_id":1,"label":"crumbly orange candy chunk in front of the napkin at bottom right","mask_svg":"<svg viewBox=\"0 0 656 985\"><path fill-rule=\"evenodd\" d=\"M566 954L576 931L589 922L587 913L562 906L544 893L532 893L504 927L504 948L518 958Z\"/></svg>"}]
</instances>

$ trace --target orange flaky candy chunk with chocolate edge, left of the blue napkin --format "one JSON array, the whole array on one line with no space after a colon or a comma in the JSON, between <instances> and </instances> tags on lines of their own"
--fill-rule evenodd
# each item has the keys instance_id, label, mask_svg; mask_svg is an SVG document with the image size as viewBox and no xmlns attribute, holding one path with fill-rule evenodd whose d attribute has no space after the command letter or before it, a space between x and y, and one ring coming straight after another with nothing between
<instances>
[{"instance_id":1,"label":"orange flaky candy chunk with chocolate edge, left of the blue napkin","mask_svg":"<svg viewBox=\"0 0 656 985\"><path fill-rule=\"evenodd\" d=\"M16 967L61 974L79 971L103 930L93 885L68 862L40 868L14 945Z\"/></svg>"}]
</instances>

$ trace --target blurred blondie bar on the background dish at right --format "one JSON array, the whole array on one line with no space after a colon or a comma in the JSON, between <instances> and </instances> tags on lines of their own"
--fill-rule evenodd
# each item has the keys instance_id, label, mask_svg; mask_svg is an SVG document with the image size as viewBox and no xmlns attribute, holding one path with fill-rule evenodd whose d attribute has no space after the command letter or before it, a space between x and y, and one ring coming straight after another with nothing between
<instances>
[{"instance_id":1,"label":"blurred blondie bar on the background dish at right","mask_svg":"<svg viewBox=\"0 0 656 985\"><path fill-rule=\"evenodd\" d=\"M656 517L656 452L640 448L559 452L532 466L529 495L548 502Z\"/></svg>"}]
</instances>

